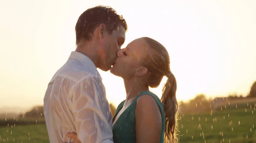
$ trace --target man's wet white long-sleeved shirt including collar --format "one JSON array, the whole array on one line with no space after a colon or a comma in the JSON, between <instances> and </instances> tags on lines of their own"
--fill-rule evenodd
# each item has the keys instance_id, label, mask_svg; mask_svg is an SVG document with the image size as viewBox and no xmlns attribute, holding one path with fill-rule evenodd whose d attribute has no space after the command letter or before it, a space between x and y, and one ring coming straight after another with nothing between
<instances>
[{"instance_id":1,"label":"man's wet white long-sleeved shirt including collar","mask_svg":"<svg viewBox=\"0 0 256 143\"><path fill-rule=\"evenodd\" d=\"M112 115L105 87L93 62L72 52L55 73L44 96L44 116L50 143L113 143Z\"/></svg>"}]
</instances>

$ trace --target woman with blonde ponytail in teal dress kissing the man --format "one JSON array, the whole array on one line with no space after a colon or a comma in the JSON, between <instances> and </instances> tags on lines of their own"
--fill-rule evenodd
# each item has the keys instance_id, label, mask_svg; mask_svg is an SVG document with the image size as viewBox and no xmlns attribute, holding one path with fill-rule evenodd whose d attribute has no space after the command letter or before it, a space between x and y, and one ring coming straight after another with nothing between
<instances>
[{"instance_id":1,"label":"woman with blonde ponytail in teal dress kissing the man","mask_svg":"<svg viewBox=\"0 0 256 143\"><path fill-rule=\"evenodd\" d=\"M176 79L166 48L154 39L135 39L117 53L111 73L124 79L126 100L113 117L114 143L175 143ZM161 100L149 91L167 76ZM67 135L74 137L74 134Z\"/></svg>"}]
</instances>

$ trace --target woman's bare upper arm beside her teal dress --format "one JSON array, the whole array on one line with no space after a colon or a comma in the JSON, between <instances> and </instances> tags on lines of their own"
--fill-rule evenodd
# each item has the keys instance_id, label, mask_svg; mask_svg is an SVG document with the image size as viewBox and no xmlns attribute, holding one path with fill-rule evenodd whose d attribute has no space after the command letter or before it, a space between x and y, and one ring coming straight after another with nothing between
<instances>
[{"instance_id":1,"label":"woman's bare upper arm beside her teal dress","mask_svg":"<svg viewBox=\"0 0 256 143\"><path fill-rule=\"evenodd\" d=\"M151 95L141 95L135 108L136 143L159 143L162 128L161 112Z\"/></svg>"}]
</instances>

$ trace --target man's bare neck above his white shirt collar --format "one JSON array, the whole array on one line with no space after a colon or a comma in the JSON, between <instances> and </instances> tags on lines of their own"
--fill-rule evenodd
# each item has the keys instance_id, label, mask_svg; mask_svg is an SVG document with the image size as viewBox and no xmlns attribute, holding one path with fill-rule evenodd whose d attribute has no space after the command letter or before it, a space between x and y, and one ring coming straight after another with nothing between
<instances>
[{"instance_id":1,"label":"man's bare neck above his white shirt collar","mask_svg":"<svg viewBox=\"0 0 256 143\"><path fill-rule=\"evenodd\" d=\"M98 56L97 49L95 48L94 45L90 45L88 43L82 43L77 45L75 51L84 54L93 62L96 68L99 67L99 56Z\"/></svg>"}]
</instances>

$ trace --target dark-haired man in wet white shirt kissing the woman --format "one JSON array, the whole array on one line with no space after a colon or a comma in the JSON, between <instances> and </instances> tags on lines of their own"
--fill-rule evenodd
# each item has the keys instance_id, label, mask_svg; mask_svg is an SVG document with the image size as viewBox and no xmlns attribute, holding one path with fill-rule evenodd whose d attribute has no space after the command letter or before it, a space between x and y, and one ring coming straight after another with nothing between
<instances>
[{"instance_id":1,"label":"dark-haired man in wet white shirt kissing the woman","mask_svg":"<svg viewBox=\"0 0 256 143\"><path fill-rule=\"evenodd\" d=\"M82 143L113 143L111 110L96 68L111 69L126 31L125 20L111 7L81 14L76 51L52 77L44 96L50 143L75 142L67 132L76 132Z\"/></svg>"}]
</instances>

